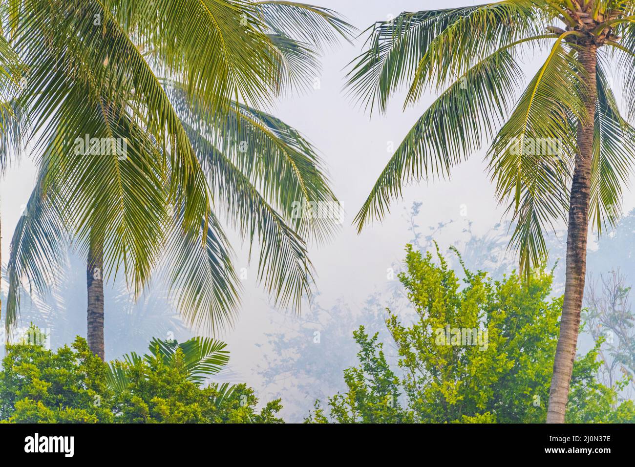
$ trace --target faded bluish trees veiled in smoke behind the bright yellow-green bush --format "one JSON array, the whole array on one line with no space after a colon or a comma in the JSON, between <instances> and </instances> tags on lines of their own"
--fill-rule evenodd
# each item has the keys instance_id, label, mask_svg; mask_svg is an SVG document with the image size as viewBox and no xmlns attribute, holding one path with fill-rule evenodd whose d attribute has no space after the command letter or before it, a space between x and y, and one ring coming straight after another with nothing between
<instances>
[{"instance_id":1,"label":"faded bluish trees veiled in smoke behind the bright yellow-green bush","mask_svg":"<svg viewBox=\"0 0 635 467\"><path fill-rule=\"evenodd\" d=\"M499 280L504 274L511 274L514 271L516 261L511 252L507 250L509 243L509 222L504 225L495 225L490 227L484 234L475 234L471 230L471 222L469 219L447 219L436 225L425 227L425 219L420 216L420 203L406 208L404 206L402 215L408 220L410 238L409 243L413 244L413 248L420 250L422 253L432 249L434 251L434 239L445 238L445 245L456 245L461 252L461 259L465 262L467 269L485 269L488 276L493 280ZM457 222L461 222L463 227L462 234L456 235L451 233L451 226L456 229ZM635 244L635 211L625 215L620 219L618 226L611 235L603 235L598 239L598 249L589 251L587 257L587 270L594 275L604 274L615 266L622 272L626 272L624 277L624 285L630 285L630 277L635 276L635 269L631 264L631 249ZM460 228L458 229L460 230ZM566 232L558 230L558 237L564 238ZM454 239L448 241L448 238ZM549 247L549 263L548 268L554 273L552 280L551 294L561 294L564 288L564 271L563 261L564 247L558 243L558 238L551 235L545 238ZM445 250L442 250L445 252ZM452 257L448 256L448 262ZM399 270L398 264L391 265L395 270ZM461 271L457 271L461 274ZM608 277L612 277L608 276ZM399 284L399 281L394 281ZM587 280L589 283L589 280ZM591 281L592 283L592 281ZM591 290L591 291L589 291ZM603 313L606 315L606 323L598 329L597 317L584 315L586 322L584 332L581 331L578 339L578 348L589 349L593 347L597 341L593 337L599 335L607 335L608 323L617 325L618 328L613 330L613 344L604 342L599 349L599 358L603 364L600 370L605 367L612 367L617 370L613 381L618 381L622 377L624 367L630 368L630 365L623 360L624 351L627 350L629 342L628 327L629 318L627 316L628 307L624 306L624 297L617 297L613 292L605 296L599 290L587 288L585 292L585 307L589 311L593 309L604 309L611 313ZM620 294L621 295L621 294ZM594 304L592 298L595 297L598 303ZM615 299L618 298L616 301ZM329 395L344 391L345 384L342 380L342 371L356 364L357 344L350 339L353 330L364 325L364 330L373 335L379 332L378 339L382 342L388 342L390 335L387 334L385 328L385 308L388 306L394 313L399 313L402 320L407 320L409 316L406 313L412 313L408 306L407 300L404 299L401 287L390 287L390 292L374 292L366 299L363 308L356 309L348 306L345 299L338 301L337 304L324 308L318 297L312 304L310 311L304 311L302 316L290 318L284 314L275 314L272 324L276 327L276 331L267 334L269 338L269 350L264 345L258 345L258 351L265 351L264 363L258 367L258 373L264 377L264 384L269 391L273 391L283 397L284 407L287 410L285 418L287 421L301 421L307 413L307 398L313 401L315 399L326 401ZM613 313L612 309L615 307ZM609 316L611 316L609 318ZM604 319L604 318L603 318ZM622 329L620 329L622 328ZM316 344L314 341L315 332L320 333L321 343ZM622 339L619 336L622 335ZM326 344L326 345L324 345ZM620 349L620 362L610 355L612 348ZM623 363L623 366L622 364ZM608 387L614 386L606 374L599 375L599 381ZM632 380L631 389L624 388L620 391L620 398L632 398ZM308 397L307 397L308 395ZM290 413L289 411L292 410Z\"/></svg>"}]
</instances>

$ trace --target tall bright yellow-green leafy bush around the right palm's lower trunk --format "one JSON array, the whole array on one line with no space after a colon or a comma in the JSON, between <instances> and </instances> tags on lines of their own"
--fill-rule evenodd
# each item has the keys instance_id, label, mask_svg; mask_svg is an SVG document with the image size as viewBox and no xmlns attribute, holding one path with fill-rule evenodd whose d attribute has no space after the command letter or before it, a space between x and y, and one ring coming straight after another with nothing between
<instances>
[{"instance_id":1,"label":"tall bright yellow-green leafy bush around the right palm's lower trunk","mask_svg":"<svg viewBox=\"0 0 635 467\"><path fill-rule=\"evenodd\" d=\"M399 374L377 334L354 333L359 366L345 370L347 392L329 398L339 423L542 423L562 298L549 298L552 275L542 269L528 281L517 274L492 280L465 269L460 280L439 252L406 249L399 279L417 317L386 320ZM460 257L459 257L460 259ZM462 283L463 282L463 283ZM448 330L450 332L448 332ZM568 421L634 422L632 401L596 381L598 346L575 362ZM329 417L318 402L307 421Z\"/></svg>"}]
</instances>

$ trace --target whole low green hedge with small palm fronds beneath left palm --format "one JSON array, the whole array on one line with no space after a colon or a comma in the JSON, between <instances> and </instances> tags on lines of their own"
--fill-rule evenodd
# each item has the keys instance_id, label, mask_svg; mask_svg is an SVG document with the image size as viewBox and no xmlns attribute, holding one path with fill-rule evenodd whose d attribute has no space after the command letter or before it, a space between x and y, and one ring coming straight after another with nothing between
<instances>
[{"instance_id":1,"label":"whole low green hedge with small palm fronds beneath left palm","mask_svg":"<svg viewBox=\"0 0 635 467\"><path fill-rule=\"evenodd\" d=\"M28 335L37 335L31 329ZM213 339L150 343L110 366L85 339L57 352L39 339L8 347L0 371L4 423L283 423L274 400L257 410L245 384L206 384L229 360Z\"/></svg>"}]
</instances>

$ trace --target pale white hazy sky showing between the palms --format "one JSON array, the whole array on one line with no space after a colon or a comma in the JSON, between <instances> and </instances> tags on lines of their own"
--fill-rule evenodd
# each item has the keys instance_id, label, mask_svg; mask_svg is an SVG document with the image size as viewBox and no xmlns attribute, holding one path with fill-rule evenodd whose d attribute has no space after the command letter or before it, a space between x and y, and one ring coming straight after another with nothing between
<instances>
[{"instance_id":1,"label":"pale white hazy sky showing between the palms","mask_svg":"<svg viewBox=\"0 0 635 467\"><path fill-rule=\"evenodd\" d=\"M366 29L377 20L396 17L401 11L448 8L475 2L312 0L308 3L337 10L359 29ZM447 242L457 238L467 219L473 222L475 233L484 233L505 219L504 209L495 202L481 151L472 154L467 163L454 168L449 181L408 187L404 191L404 200L392 204L391 214L382 223L366 227L361 235L356 233L351 225L352 219L390 157L387 151L389 142L398 146L433 98L425 96L417 105L402 111L404 93L401 93L392 98L385 115L375 113L370 118L367 112L346 98L342 90L344 69L361 51L362 43L358 40L354 44L343 44L327 53L323 58L323 73L319 76L320 88L299 97L286 98L272 109L276 116L300 130L326 161L333 189L346 215L341 231L329 245L311 247L311 259L318 273L321 302L328 306L344 298L353 309L361 308L364 299L375 290L389 286L386 269L401 261L404 245L411 238L404 208L410 208L413 201L423 202L419 219L424 229L441 221L460 221L445 238L438 238L444 248L448 246ZM527 63L526 75L533 75L536 69L536 63ZM32 162L24 158L19 167L8 172L0 185L5 263L20 207L26 203L34 185L34 174ZM625 198L625 211L628 211L635 203L630 192ZM467 208L467 217L460 215L462 205ZM236 250L237 268L246 266L241 246L236 245ZM232 367L247 382L251 382L252 369L260 358L255 344L264 342L264 333L271 330L271 305L253 283L253 276L253 273L250 274L244 284L243 309L236 327L224 336L229 342ZM77 288L84 290L84 296L85 287L84 281L77 283ZM69 310L69 313L77 313L77 319L84 320L85 309L85 303L78 303L77 309Z\"/></svg>"}]
</instances>

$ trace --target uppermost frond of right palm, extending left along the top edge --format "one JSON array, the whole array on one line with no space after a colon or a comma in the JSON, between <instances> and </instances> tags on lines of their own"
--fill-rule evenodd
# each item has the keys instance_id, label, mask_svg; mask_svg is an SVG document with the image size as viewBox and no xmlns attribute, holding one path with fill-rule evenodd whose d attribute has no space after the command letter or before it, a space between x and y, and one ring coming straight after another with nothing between
<instances>
[{"instance_id":1,"label":"uppermost frond of right palm, extending left along the top edge","mask_svg":"<svg viewBox=\"0 0 635 467\"><path fill-rule=\"evenodd\" d=\"M349 93L371 111L375 106L385 111L389 95L400 85L419 89L424 79L432 78L429 67L439 67L441 85L450 71L454 81L505 44L535 36L536 14L531 1L502 1L406 12L377 22L365 31L370 32L367 50L351 62Z\"/></svg>"}]
</instances>

